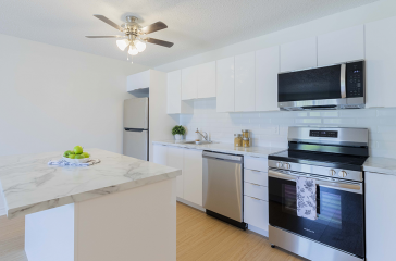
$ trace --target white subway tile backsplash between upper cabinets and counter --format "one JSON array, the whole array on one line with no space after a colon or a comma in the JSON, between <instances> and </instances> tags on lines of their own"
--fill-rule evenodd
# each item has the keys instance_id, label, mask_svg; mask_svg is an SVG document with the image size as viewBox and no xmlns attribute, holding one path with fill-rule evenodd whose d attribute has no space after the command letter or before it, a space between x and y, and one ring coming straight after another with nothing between
<instances>
[{"instance_id":1,"label":"white subway tile backsplash between upper cabinets and counter","mask_svg":"<svg viewBox=\"0 0 396 261\"><path fill-rule=\"evenodd\" d=\"M396 158L396 108L235 113L218 113L215 108L215 99L195 100L194 114L181 115L187 139L194 139L198 128L214 141L233 144L234 134L247 128L253 146L286 148L288 126L364 127L370 132L371 156Z\"/></svg>"}]
</instances>

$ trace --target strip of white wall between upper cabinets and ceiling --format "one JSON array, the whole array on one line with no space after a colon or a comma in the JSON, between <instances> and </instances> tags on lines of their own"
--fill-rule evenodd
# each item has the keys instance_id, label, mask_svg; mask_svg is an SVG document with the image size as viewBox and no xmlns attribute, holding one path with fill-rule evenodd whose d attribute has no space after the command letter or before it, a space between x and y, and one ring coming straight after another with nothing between
<instances>
[{"instance_id":1,"label":"strip of white wall between upper cabinets and ceiling","mask_svg":"<svg viewBox=\"0 0 396 261\"><path fill-rule=\"evenodd\" d=\"M283 30L279 30L252 39L247 39L245 41L215 49L213 51L200 53L198 55L163 64L157 66L156 70L172 72L174 70L215 61L227 57L234 57L250 51L257 51L267 47L318 36L395 15L396 1L381 0L356 9L350 9L341 13L314 20L308 23L296 25Z\"/></svg>"}]
</instances>

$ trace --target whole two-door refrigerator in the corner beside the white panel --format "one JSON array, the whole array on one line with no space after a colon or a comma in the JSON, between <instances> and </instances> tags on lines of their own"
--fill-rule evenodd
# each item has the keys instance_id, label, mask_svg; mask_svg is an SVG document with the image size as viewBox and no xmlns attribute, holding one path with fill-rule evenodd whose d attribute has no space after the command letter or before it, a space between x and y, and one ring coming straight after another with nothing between
<instances>
[{"instance_id":1,"label":"whole two-door refrigerator in the corner beside the white panel","mask_svg":"<svg viewBox=\"0 0 396 261\"><path fill-rule=\"evenodd\" d=\"M149 99L124 101L123 153L148 161L149 157Z\"/></svg>"}]
</instances>

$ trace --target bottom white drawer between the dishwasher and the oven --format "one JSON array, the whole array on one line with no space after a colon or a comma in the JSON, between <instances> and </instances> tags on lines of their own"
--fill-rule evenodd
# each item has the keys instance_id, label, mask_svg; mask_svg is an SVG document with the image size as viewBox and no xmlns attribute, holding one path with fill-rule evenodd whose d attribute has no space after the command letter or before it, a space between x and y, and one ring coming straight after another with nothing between
<instances>
[{"instance_id":1,"label":"bottom white drawer between the dishwasher and the oven","mask_svg":"<svg viewBox=\"0 0 396 261\"><path fill-rule=\"evenodd\" d=\"M244 222L268 232L268 202L244 196Z\"/></svg>"}]
</instances>

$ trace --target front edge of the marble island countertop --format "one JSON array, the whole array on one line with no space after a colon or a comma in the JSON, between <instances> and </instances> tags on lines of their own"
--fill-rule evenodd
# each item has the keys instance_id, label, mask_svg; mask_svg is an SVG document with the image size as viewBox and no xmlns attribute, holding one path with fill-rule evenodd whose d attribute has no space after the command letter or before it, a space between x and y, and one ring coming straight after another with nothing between
<instances>
[{"instance_id":1,"label":"front edge of the marble island countertop","mask_svg":"<svg viewBox=\"0 0 396 261\"><path fill-rule=\"evenodd\" d=\"M39 211L53 209L53 208L70 204L70 203L76 203L76 202L82 202L82 201L89 200L89 199L99 198L99 197L102 197L102 196L106 196L109 194L125 191L125 190L133 189L136 187L141 187L145 185L163 182L163 181L166 181L170 178L175 178L180 175L182 175L182 171L175 170L175 171L166 172L166 173L159 174L156 176L150 176L150 177L146 177L146 178L137 179L137 181L131 181L131 182L123 183L120 185L103 187L100 189L85 191L85 192L81 192L81 194L76 194L76 195L69 195L69 196L64 196L61 198L50 199L47 201L42 201L39 203L29 204L29 206L24 206L24 207L20 207L20 208L9 209L8 206L5 204L4 209L7 212L7 217L14 219L17 216L24 216L27 214L33 214L33 213L36 213Z\"/></svg>"}]
</instances>

